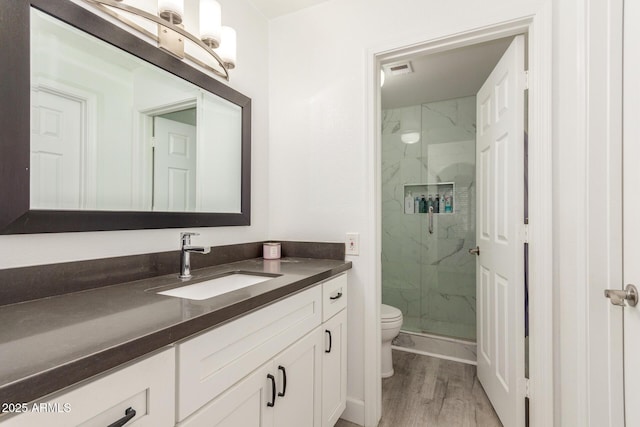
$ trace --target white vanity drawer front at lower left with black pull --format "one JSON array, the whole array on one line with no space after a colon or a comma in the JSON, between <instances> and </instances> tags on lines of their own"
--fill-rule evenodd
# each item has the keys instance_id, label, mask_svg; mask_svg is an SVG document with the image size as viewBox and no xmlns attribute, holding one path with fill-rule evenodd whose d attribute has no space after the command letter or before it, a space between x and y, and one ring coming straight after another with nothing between
<instances>
[{"instance_id":1,"label":"white vanity drawer front at lower left with black pull","mask_svg":"<svg viewBox=\"0 0 640 427\"><path fill-rule=\"evenodd\" d=\"M175 421L174 402L175 352L171 348L42 402L27 404L29 412L2 421L0 426L104 427L133 408L135 416L126 425L169 427Z\"/></svg>"}]
</instances>

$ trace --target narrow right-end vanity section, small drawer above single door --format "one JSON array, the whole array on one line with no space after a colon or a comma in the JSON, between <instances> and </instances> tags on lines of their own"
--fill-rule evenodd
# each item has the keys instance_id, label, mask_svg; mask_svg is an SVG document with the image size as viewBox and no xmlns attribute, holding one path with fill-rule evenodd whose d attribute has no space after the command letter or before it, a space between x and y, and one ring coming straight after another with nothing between
<instances>
[{"instance_id":1,"label":"narrow right-end vanity section, small drawer above single door","mask_svg":"<svg viewBox=\"0 0 640 427\"><path fill-rule=\"evenodd\" d=\"M347 404L347 275L322 286L322 427L333 427Z\"/></svg>"}]
</instances>

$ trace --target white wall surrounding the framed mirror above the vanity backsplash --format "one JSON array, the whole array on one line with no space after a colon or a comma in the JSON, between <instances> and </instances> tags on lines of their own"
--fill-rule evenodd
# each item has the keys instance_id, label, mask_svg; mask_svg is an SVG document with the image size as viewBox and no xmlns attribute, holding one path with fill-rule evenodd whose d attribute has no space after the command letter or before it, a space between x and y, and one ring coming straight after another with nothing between
<instances>
[{"instance_id":1,"label":"white wall surrounding the framed mirror above the vanity backsplash","mask_svg":"<svg viewBox=\"0 0 640 427\"><path fill-rule=\"evenodd\" d=\"M267 238L268 23L248 0L219 0L223 23L238 32L238 63L229 86L252 99L251 226L200 228L195 244ZM187 0L188 9L194 0ZM191 5L193 6L193 5ZM178 249L179 229L0 236L0 269Z\"/></svg>"}]
</instances>

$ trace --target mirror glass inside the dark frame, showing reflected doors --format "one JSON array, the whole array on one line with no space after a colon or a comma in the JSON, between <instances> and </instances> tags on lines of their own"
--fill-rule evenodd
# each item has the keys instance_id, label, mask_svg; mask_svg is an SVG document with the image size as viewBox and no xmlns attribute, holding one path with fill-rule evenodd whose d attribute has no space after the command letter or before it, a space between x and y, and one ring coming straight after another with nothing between
<instances>
[{"instance_id":1,"label":"mirror glass inside the dark frame, showing reflected doors","mask_svg":"<svg viewBox=\"0 0 640 427\"><path fill-rule=\"evenodd\" d=\"M242 108L31 11L31 209L241 212Z\"/></svg>"}]
</instances>

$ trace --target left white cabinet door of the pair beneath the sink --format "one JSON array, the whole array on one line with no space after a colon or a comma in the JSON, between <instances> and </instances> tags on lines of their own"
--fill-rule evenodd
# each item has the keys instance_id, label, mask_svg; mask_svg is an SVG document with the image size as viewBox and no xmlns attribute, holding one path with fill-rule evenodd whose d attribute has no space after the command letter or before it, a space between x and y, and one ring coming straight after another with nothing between
<instances>
[{"instance_id":1,"label":"left white cabinet door of the pair beneath the sink","mask_svg":"<svg viewBox=\"0 0 640 427\"><path fill-rule=\"evenodd\" d=\"M222 393L184 422L180 427L273 427L276 399L273 363L256 369L244 380ZM271 375L270 379L269 375Z\"/></svg>"}]
</instances>

